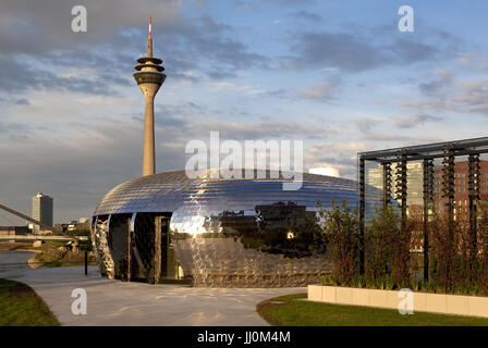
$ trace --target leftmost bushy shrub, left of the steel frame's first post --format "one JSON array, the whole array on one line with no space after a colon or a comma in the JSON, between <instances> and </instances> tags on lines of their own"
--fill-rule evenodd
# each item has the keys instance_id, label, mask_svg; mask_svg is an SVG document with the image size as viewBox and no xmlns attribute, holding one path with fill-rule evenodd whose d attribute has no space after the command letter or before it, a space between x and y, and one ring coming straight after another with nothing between
<instances>
[{"instance_id":1,"label":"leftmost bushy shrub, left of the steel frame's first post","mask_svg":"<svg viewBox=\"0 0 488 348\"><path fill-rule=\"evenodd\" d=\"M332 201L330 209L320 209L320 216L325 219L321 236L330 250L333 275L341 283L347 284L358 273L359 221L357 211L351 210L345 200L342 201L342 206Z\"/></svg>"}]
</instances>

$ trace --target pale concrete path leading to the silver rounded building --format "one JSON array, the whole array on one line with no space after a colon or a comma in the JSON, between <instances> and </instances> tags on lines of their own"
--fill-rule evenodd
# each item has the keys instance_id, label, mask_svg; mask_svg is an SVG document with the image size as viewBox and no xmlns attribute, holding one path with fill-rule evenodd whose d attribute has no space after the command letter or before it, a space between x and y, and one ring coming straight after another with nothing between
<instances>
[{"instance_id":1,"label":"pale concrete path leading to the silver rounded building","mask_svg":"<svg viewBox=\"0 0 488 348\"><path fill-rule=\"evenodd\" d=\"M62 325L267 325L256 313L265 299L306 293L306 288L194 288L123 283L102 278L95 266L21 270L0 273L23 282L42 297ZM87 314L74 315L74 288L87 294Z\"/></svg>"}]
</instances>

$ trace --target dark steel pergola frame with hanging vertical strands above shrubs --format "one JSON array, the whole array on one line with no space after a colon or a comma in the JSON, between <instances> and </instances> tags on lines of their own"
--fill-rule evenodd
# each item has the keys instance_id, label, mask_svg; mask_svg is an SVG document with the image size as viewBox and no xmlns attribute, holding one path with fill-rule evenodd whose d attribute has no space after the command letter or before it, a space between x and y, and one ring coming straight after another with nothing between
<instances>
[{"instance_id":1,"label":"dark steel pergola frame with hanging vertical strands above shrubs","mask_svg":"<svg viewBox=\"0 0 488 348\"><path fill-rule=\"evenodd\" d=\"M366 161L377 162L382 165L383 174L383 207L389 204L392 197L391 164L396 164L394 179L396 191L394 197L400 202L402 211L402 226L404 226L407 204L407 162L423 161L423 197L424 197L424 278L429 277L429 240L428 240L428 208L434 202L434 160L442 159L442 197L448 200L449 229L454 228L454 161L456 157L468 157L468 198L469 198L469 245L476 250L477 229L476 214L477 201L479 200L479 156L488 153L488 137L465 140L436 142L412 147L386 149L379 151L367 151L357 153L358 162L358 197L359 197L359 270L364 272L364 233L365 233L365 207L366 207ZM452 233L451 233L452 235ZM472 263L476 262L475 253L472 252Z\"/></svg>"}]
</instances>

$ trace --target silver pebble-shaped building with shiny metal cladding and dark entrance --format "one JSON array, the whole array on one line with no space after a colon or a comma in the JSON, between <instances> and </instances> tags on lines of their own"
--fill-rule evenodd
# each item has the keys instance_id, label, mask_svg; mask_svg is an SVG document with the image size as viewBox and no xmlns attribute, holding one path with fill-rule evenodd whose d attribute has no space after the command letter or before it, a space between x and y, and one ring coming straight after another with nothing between
<instances>
[{"instance_id":1,"label":"silver pebble-shaped building with shiny metal cladding and dark entrance","mask_svg":"<svg viewBox=\"0 0 488 348\"><path fill-rule=\"evenodd\" d=\"M263 174L263 173L261 173ZM194 286L305 286L330 273L319 206L357 207L354 181L188 178L184 171L125 182L97 206L91 237L109 278ZM254 176L256 177L256 176Z\"/></svg>"}]
</instances>

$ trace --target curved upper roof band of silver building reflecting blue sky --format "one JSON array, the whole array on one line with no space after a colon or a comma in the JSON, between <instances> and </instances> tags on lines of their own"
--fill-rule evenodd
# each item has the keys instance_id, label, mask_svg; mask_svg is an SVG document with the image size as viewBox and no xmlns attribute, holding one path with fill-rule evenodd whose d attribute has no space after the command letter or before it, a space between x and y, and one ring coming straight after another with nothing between
<instances>
[{"instance_id":1,"label":"curved upper roof band of silver building reflecting blue sky","mask_svg":"<svg viewBox=\"0 0 488 348\"><path fill-rule=\"evenodd\" d=\"M125 182L110 190L94 215L155 211L253 210L258 203L294 201L316 208L320 200L346 199L355 208L356 183L322 175L304 174L298 190L285 191L279 179L190 179L185 172L169 172ZM223 209L222 209L223 208Z\"/></svg>"}]
</instances>

